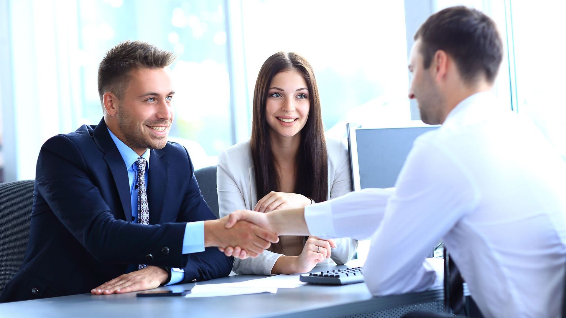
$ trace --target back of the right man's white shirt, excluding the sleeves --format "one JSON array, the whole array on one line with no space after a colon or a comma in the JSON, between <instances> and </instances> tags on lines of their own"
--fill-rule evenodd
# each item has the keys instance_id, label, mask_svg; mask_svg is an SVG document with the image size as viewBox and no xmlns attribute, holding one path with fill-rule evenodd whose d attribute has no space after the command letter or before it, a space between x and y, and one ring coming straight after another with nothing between
<instances>
[{"instance_id":1,"label":"back of the right man's white shirt, excluding the sleeves","mask_svg":"<svg viewBox=\"0 0 566 318\"><path fill-rule=\"evenodd\" d=\"M566 269L566 164L490 93L458 105L421 142L469 177L473 207L444 241L487 316L557 316ZM498 310L499 309L499 310Z\"/></svg>"}]
</instances>

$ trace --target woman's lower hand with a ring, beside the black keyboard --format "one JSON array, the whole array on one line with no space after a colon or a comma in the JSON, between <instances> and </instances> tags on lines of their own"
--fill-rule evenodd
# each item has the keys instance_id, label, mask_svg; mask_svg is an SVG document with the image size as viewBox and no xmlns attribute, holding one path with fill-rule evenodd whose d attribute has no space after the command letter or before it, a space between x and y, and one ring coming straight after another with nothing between
<instances>
[{"instance_id":1,"label":"woman's lower hand with a ring, beside the black keyboard","mask_svg":"<svg viewBox=\"0 0 566 318\"><path fill-rule=\"evenodd\" d=\"M325 240L313 236L308 237L301 255L294 259L294 272L310 272L316 264L330 258L332 253L331 247L336 248L336 242L333 239Z\"/></svg>"}]
</instances>

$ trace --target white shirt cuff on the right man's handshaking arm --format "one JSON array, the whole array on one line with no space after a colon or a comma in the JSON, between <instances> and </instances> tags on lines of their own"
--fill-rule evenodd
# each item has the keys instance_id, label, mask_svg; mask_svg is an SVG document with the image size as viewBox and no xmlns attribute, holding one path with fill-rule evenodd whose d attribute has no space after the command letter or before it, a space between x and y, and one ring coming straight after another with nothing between
<instances>
[{"instance_id":1,"label":"white shirt cuff on the right man's handshaking arm","mask_svg":"<svg viewBox=\"0 0 566 318\"><path fill-rule=\"evenodd\" d=\"M332 204L329 201L307 205L305 207L305 222L311 235L320 238L336 238Z\"/></svg>"}]
</instances>

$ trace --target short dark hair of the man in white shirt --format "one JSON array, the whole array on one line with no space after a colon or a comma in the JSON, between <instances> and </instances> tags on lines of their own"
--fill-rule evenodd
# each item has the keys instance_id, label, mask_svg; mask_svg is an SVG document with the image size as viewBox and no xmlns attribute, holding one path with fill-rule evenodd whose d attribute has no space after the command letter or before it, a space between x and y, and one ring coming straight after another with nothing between
<instances>
[{"instance_id":1,"label":"short dark hair of the man in white shirt","mask_svg":"<svg viewBox=\"0 0 566 318\"><path fill-rule=\"evenodd\" d=\"M449 54L466 83L484 75L493 83L503 58L503 42L490 17L464 6L449 7L431 15L415 34L421 39L424 68L438 50Z\"/></svg>"}]
</instances>

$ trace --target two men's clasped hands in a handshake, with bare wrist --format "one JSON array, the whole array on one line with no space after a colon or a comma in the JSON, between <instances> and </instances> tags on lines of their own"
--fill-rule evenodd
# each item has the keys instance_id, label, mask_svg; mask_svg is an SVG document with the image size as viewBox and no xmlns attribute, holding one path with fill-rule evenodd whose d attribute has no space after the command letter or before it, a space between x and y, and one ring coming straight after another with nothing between
<instances>
[{"instance_id":1,"label":"two men's clasped hands in a handshake, with bare wrist","mask_svg":"<svg viewBox=\"0 0 566 318\"><path fill-rule=\"evenodd\" d=\"M204 246L216 246L226 256L240 259L257 257L279 242L278 235L308 235L302 208L269 213L236 210L204 222Z\"/></svg>"}]
</instances>

